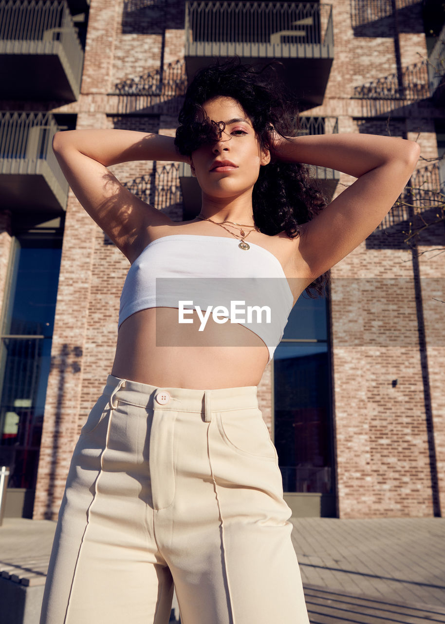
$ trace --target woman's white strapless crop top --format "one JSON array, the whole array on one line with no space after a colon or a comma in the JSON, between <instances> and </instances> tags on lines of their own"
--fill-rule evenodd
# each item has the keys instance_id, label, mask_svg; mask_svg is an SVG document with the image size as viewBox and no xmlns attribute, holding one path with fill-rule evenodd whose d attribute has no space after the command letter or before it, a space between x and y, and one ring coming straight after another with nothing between
<instances>
[{"instance_id":1,"label":"woman's white strapless crop top","mask_svg":"<svg viewBox=\"0 0 445 624\"><path fill-rule=\"evenodd\" d=\"M128 316L146 308L178 308L179 314L181 308L199 306L205 314L212 306L209 314L216 322L230 319L257 334L269 349L270 362L294 296L278 258L260 245L249 242L250 249L242 250L238 244L239 240L226 236L191 234L151 241L128 270L118 328ZM182 318L192 315L184 312Z\"/></svg>"}]
</instances>

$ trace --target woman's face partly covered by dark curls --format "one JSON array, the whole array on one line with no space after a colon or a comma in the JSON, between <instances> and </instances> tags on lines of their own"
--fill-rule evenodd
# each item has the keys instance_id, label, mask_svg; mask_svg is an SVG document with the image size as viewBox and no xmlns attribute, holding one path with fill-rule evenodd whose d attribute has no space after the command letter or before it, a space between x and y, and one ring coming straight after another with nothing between
<instances>
[{"instance_id":1,"label":"woman's face partly covered by dark curls","mask_svg":"<svg viewBox=\"0 0 445 624\"><path fill-rule=\"evenodd\" d=\"M269 152L261 150L251 120L231 97L208 100L203 109L209 119L223 121L226 127L219 141L201 145L191 155L191 169L199 186L205 195L221 199L251 193L261 165L270 162Z\"/></svg>"}]
</instances>

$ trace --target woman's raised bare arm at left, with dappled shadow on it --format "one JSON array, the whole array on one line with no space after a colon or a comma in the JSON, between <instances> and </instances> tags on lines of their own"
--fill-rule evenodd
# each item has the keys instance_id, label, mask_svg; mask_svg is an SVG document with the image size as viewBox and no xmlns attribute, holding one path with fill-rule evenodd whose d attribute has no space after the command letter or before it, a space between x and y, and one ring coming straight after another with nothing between
<instances>
[{"instance_id":1,"label":"woman's raised bare arm at left, with dappled shadow on it","mask_svg":"<svg viewBox=\"0 0 445 624\"><path fill-rule=\"evenodd\" d=\"M123 187L107 167L132 160L183 161L173 137L132 130L69 130L55 134L52 148L74 195L130 262L139 255L151 227L171 223Z\"/></svg>"}]
</instances>

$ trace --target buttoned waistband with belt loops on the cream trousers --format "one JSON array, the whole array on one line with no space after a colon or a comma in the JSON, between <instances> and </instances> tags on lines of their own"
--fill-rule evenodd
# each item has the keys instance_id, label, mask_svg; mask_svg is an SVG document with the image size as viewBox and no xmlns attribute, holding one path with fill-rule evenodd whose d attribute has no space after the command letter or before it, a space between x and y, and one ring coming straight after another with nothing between
<instances>
[{"instance_id":1,"label":"buttoned waistband with belt loops on the cream trousers","mask_svg":"<svg viewBox=\"0 0 445 624\"><path fill-rule=\"evenodd\" d=\"M151 409L197 412L204 416L205 422L211 421L212 412L258 407L257 386L213 390L160 388L108 375L103 394L110 397L112 408L120 401Z\"/></svg>"}]
</instances>

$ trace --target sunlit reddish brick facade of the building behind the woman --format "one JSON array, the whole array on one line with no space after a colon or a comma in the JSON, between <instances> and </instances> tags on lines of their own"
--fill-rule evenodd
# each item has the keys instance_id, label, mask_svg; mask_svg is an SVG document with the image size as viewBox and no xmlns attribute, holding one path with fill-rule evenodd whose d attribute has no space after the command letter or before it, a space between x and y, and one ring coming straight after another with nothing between
<instances>
[{"instance_id":1,"label":"sunlit reddish brick facade of the building behind the woman","mask_svg":"<svg viewBox=\"0 0 445 624\"><path fill-rule=\"evenodd\" d=\"M370 2L373 7L380 4ZM340 132L418 140L423 157L434 158L431 119L444 119L444 112L406 93L403 98L384 95L396 88L400 74L412 82L414 74L406 68L426 56L420 3L398 0L397 21L391 11L372 19L360 6L358 0L333 3L335 60L323 104L305 115L338 117ZM173 135L183 92L183 27L181 0L92 0L79 101L54 111L77 114L79 128ZM169 79L160 92L153 85L161 67ZM151 193L156 207L181 220L175 167L132 162L113 167L113 173L129 188L142 188L147 197ZM342 174L337 193L352 182ZM0 262L7 246L7 236L2 236ZM443 245L443 228L424 233L414 250L404 237L400 223L377 230L332 270L341 517L428 516L438 512L436 485L445 497L444 324L439 303L445 300L445 263L444 255L433 251ZM57 517L80 427L111 370L128 266L70 194L35 518ZM272 431L272 364L258 396Z\"/></svg>"}]
</instances>

